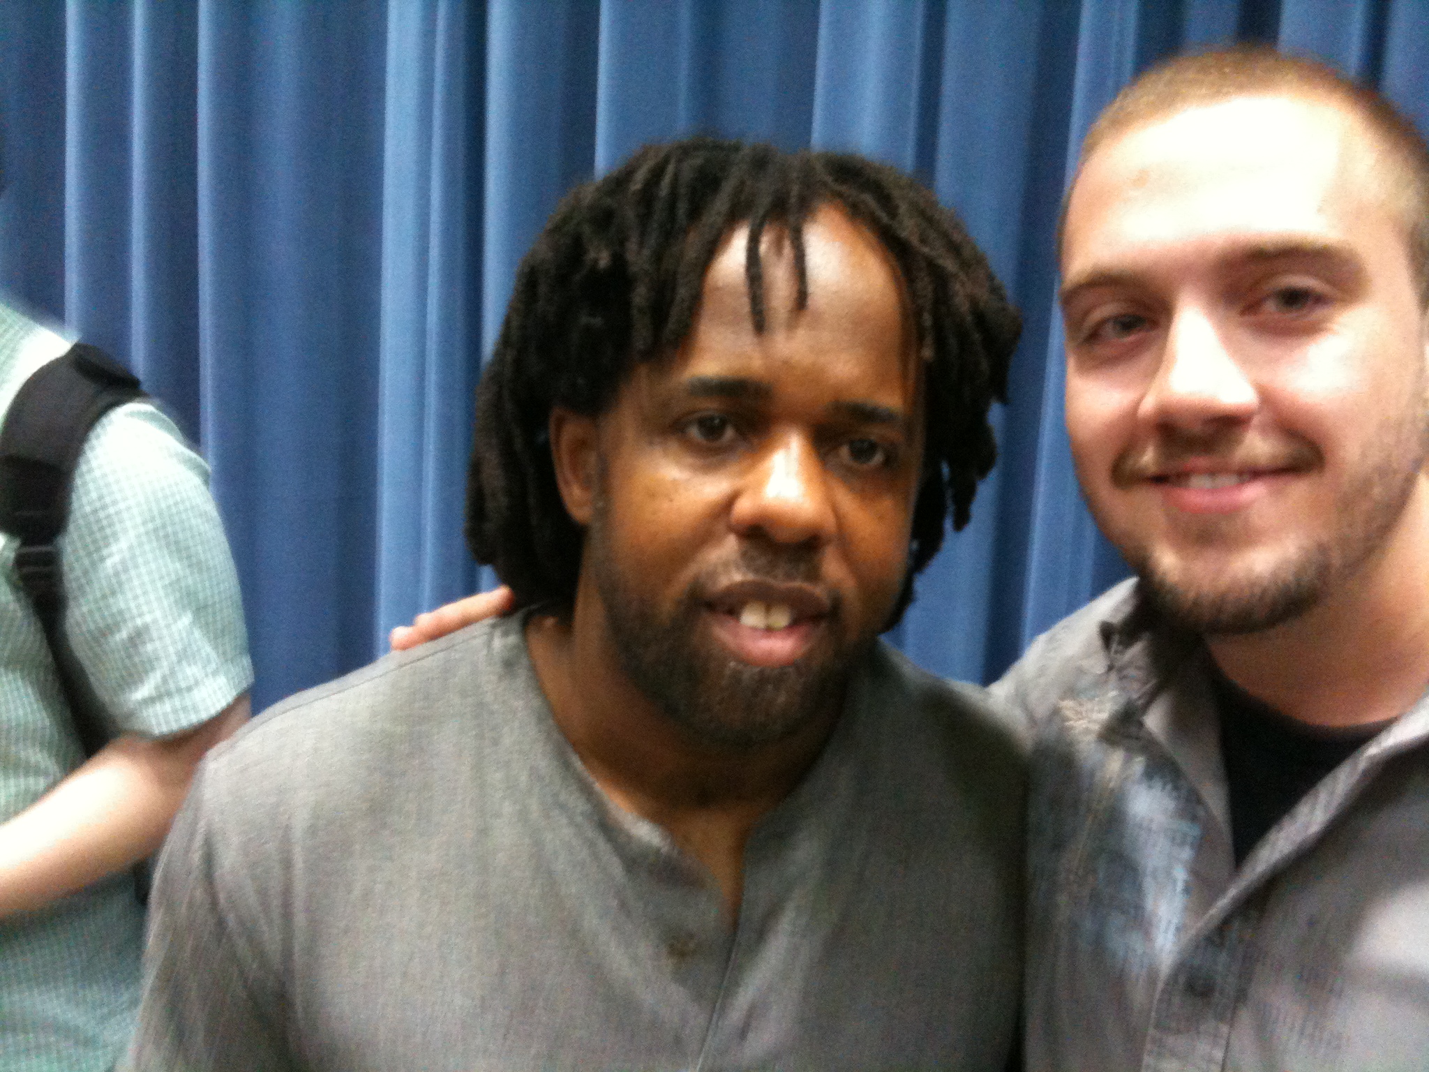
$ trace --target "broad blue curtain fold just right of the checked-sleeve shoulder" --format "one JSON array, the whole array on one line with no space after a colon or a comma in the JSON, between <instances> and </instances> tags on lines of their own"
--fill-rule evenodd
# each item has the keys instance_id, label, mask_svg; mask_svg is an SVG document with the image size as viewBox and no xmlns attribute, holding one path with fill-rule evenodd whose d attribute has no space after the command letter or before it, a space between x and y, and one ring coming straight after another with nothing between
<instances>
[{"instance_id":1,"label":"broad blue curtain fold just right of the checked-sleeve shoulder","mask_svg":"<svg viewBox=\"0 0 1429 1072\"><path fill-rule=\"evenodd\" d=\"M382 3L199 6L201 446L260 703L373 655L384 70Z\"/></svg>"}]
</instances>

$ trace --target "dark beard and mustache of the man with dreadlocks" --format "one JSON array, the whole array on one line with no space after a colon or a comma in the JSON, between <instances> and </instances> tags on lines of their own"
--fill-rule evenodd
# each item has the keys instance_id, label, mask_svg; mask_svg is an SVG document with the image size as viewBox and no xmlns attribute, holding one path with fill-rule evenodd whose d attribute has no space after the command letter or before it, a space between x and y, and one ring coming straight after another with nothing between
<instances>
[{"instance_id":1,"label":"dark beard and mustache of the man with dreadlocks","mask_svg":"<svg viewBox=\"0 0 1429 1072\"><path fill-rule=\"evenodd\" d=\"M792 736L843 703L849 670L875 637L837 643L839 600L830 599L823 636L789 666L752 666L702 636L704 593L733 580L817 583L816 553L746 543L737 560L690 585L662 615L640 596L612 553L602 503L586 533L586 553L604 605L622 669L660 710L707 745L752 749Z\"/></svg>"}]
</instances>

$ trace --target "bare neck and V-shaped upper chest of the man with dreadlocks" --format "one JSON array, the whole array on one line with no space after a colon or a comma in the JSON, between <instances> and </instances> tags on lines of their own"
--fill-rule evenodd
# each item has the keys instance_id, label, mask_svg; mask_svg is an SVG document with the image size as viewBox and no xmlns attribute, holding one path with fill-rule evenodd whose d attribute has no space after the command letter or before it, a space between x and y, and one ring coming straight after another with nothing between
<instances>
[{"instance_id":1,"label":"bare neck and V-shaped upper chest of the man with dreadlocks","mask_svg":"<svg viewBox=\"0 0 1429 1072\"><path fill-rule=\"evenodd\" d=\"M769 745L699 740L626 676L599 599L583 589L569 616L536 615L526 626L556 726L616 806L659 823L710 869L735 915L755 823L813 765L839 712Z\"/></svg>"}]
</instances>

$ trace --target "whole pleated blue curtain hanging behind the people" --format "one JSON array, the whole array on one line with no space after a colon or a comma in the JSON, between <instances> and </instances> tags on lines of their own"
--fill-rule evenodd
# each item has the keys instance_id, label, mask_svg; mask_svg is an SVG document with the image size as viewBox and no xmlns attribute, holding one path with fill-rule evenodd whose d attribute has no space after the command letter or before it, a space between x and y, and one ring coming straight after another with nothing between
<instances>
[{"instance_id":1,"label":"whole pleated blue curtain hanging behind the people","mask_svg":"<svg viewBox=\"0 0 1429 1072\"><path fill-rule=\"evenodd\" d=\"M1026 317L1002 460L895 635L987 680L1125 572L1062 427L1077 143L1147 64L1235 40L1429 129L1429 0L0 0L0 286L203 449L263 705L479 583L472 392L572 184L690 131L910 169Z\"/></svg>"}]
</instances>

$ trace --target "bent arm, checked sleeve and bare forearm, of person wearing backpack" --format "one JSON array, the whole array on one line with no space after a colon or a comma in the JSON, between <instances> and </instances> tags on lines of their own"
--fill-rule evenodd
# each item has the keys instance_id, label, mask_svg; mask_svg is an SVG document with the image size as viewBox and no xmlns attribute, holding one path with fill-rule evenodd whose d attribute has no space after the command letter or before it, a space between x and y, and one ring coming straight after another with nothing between
<instances>
[{"instance_id":1,"label":"bent arm, checked sleeve and bare forearm, of person wearing backpack","mask_svg":"<svg viewBox=\"0 0 1429 1072\"><path fill-rule=\"evenodd\" d=\"M66 633L113 740L69 773L73 750L41 758L53 770L33 792L51 788L0 826L0 919L151 855L194 766L249 709L237 576L207 467L157 410L121 406L94 426L60 546ZM14 627L39 639L30 616ZM21 669L44 695L46 665ZM69 726L63 708L31 718Z\"/></svg>"}]
</instances>

